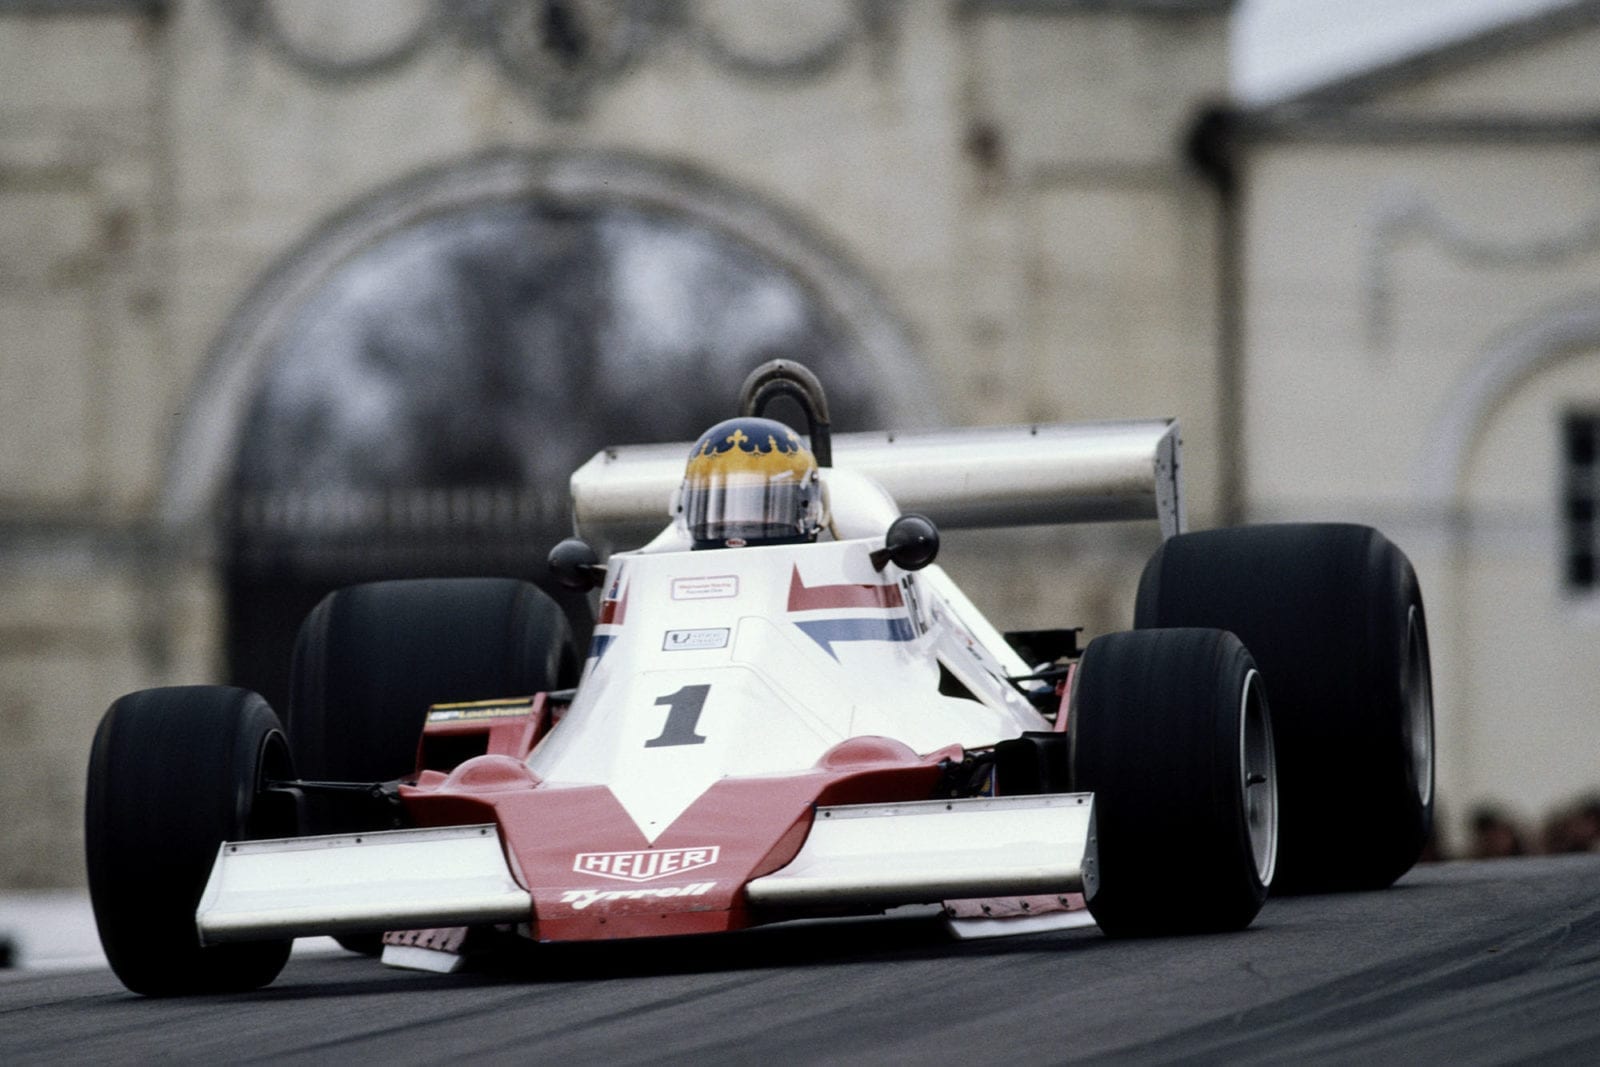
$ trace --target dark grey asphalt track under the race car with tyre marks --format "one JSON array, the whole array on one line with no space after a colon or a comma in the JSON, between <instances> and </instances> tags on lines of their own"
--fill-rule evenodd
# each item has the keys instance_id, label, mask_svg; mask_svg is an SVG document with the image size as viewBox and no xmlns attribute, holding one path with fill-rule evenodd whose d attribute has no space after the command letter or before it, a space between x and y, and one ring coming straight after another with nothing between
<instances>
[{"instance_id":1,"label":"dark grey asphalt track under the race car with tyre marks","mask_svg":"<svg viewBox=\"0 0 1600 1067\"><path fill-rule=\"evenodd\" d=\"M562 947L454 976L296 957L250 995L0 973L0 1062L1600 1062L1600 856L1418 867L1240 934L926 921Z\"/></svg>"}]
</instances>

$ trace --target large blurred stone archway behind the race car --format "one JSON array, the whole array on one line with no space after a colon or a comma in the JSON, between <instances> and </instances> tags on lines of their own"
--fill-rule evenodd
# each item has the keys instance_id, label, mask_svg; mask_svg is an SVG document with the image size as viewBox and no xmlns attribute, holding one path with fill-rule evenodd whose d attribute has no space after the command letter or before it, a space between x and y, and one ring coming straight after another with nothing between
<instances>
[{"instance_id":1,"label":"large blurred stone archway behind the race car","mask_svg":"<svg viewBox=\"0 0 1600 1067\"><path fill-rule=\"evenodd\" d=\"M245 301L176 450L170 522L221 534L229 678L282 701L299 619L342 584L542 581L578 464L693 438L779 355L840 429L928 421L872 286L702 176L502 154L358 206Z\"/></svg>"}]
</instances>

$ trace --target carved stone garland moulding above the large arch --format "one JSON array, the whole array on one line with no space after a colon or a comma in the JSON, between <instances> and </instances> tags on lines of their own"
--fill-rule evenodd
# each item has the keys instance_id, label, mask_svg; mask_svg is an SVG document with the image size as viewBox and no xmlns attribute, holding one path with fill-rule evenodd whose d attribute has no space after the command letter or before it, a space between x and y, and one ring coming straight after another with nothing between
<instances>
[{"instance_id":1,"label":"carved stone garland moulding above the large arch","mask_svg":"<svg viewBox=\"0 0 1600 1067\"><path fill-rule=\"evenodd\" d=\"M318 82L358 82L456 43L496 69L552 118L576 118L595 93L650 51L686 40L714 64L747 78L810 80L842 66L858 42L893 35L899 0L835 0L832 22L806 40L752 46L706 0L422 0L410 26L382 27L366 46L341 50L294 34L274 0L219 0L238 42L270 51Z\"/></svg>"}]
</instances>

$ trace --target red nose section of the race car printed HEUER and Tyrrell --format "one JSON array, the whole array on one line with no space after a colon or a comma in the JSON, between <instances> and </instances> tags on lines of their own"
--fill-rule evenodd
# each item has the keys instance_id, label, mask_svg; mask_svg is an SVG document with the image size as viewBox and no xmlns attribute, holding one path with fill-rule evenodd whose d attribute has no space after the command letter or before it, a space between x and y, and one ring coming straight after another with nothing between
<instances>
[{"instance_id":1,"label":"red nose section of the race car printed HEUER and Tyrrell","mask_svg":"<svg viewBox=\"0 0 1600 1067\"><path fill-rule=\"evenodd\" d=\"M502 755L424 773L400 797L418 825L499 824L533 937L656 937L786 918L752 915L744 886L795 857L819 805L926 798L949 757L853 737L802 774L718 781L654 840L610 789L541 784Z\"/></svg>"}]
</instances>

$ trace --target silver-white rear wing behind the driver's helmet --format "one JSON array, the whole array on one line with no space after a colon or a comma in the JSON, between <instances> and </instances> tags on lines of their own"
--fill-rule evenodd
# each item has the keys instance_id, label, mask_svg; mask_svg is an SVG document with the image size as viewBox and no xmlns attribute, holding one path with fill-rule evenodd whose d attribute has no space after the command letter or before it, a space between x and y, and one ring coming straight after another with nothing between
<instances>
[{"instance_id":1,"label":"silver-white rear wing behind the driver's helmet","mask_svg":"<svg viewBox=\"0 0 1600 1067\"><path fill-rule=\"evenodd\" d=\"M946 528L1154 518L1184 530L1176 419L834 435L834 466ZM693 445L606 448L571 478L579 537L643 544L661 531Z\"/></svg>"}]
</instances>

